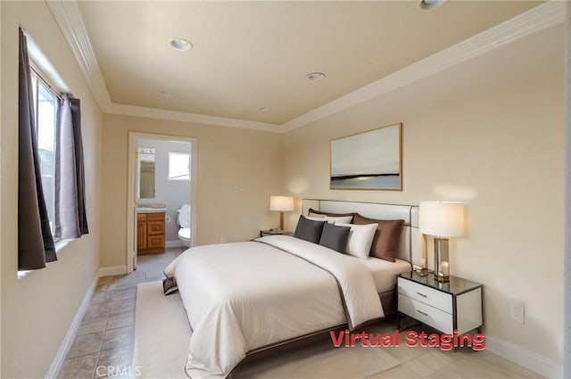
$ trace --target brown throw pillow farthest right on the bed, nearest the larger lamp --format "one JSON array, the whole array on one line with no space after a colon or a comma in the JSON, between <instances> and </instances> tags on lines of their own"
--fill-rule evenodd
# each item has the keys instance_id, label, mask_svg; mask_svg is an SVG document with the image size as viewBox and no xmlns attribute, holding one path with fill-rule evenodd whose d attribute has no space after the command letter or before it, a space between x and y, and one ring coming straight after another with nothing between
<instances>
[{"instance_id":1,"label":"brown throw pillow farthest right on the bed, nearest the larger lamp","mask_svg":"<svg viewBox=\"0 0 571 379\"><path fill-rule=\"evenodd\" d=\"M377 223L377 231L371 244L371 256L394 262L404 220L366 218L359 213L353 218L353 223L358 225L371 224L373 222Z\"/></svg>"}]
</instances>

